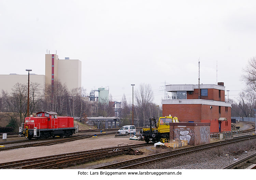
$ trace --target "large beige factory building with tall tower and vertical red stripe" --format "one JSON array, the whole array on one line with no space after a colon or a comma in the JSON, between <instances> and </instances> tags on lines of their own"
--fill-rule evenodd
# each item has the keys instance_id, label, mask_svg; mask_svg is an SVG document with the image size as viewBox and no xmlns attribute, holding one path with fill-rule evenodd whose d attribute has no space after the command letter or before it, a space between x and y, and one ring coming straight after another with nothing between
<instances>
[{"instance_id":1,"label":"large beige factory building with tall tower and vertical red stripe","mask_svg":"<svg viewBox=\"0 0 256 180\"><path fill-rule=\"evenodd\" d=\"M82 62L79 59L59 59L56 54L45 54L45 75L30 73L29 77L30 83L39 83L41 90L45 88L45 84L52 84L53 86L56 79L62 84L66 84L67 88L71 90L81 87L81 73ZM0 93L2 90L11 93L16 83L27 84L28 74L0 75Z\"/></svg>"}]
</instances>

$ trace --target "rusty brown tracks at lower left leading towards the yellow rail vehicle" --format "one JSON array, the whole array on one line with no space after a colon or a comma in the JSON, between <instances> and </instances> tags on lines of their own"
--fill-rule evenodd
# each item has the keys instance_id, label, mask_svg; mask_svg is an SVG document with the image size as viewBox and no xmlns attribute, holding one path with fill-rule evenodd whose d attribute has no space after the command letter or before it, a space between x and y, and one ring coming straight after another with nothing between
<instances>
[{"instance_id":1,"label":"rusty brown tracks at lower left leading towards the yellow rail vehicle","mask_svg":"<svg viewBox=\"0 0 256 180\"><path fill-rule=\"evenodd\" d=\"M126 154L131 148L149 146L151 144L123 145L95 150L72 152L54 156L46 156L27 160L6 162L0 164L0 169L49 169L64 168L83 164L99 159Z\"/></svg>"}]
</instances>

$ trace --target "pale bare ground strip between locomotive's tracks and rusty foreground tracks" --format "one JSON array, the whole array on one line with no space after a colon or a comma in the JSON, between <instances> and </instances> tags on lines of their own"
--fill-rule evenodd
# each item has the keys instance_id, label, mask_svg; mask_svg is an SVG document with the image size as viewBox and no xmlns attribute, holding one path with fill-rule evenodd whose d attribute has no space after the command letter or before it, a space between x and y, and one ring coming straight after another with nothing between
<instances>
[{"instance_id":1,"label":"pale bare ground strip between locomotive's tracks and rusty foreground tracks","mask_svg":"<svg viewBox=\"0 0 256 180\"><path fill-rule=\"evenodd\" d=\"M129 137L115 138L114 134L108 136L98 136L66 142L51 146L27 147L7 151L0 151L0 163L25 160L30 158L57 155L69 152L100 149L105 147L115 147L118 144L144 144L144 141L129 140Z\"/></svg>"}]
</instances>

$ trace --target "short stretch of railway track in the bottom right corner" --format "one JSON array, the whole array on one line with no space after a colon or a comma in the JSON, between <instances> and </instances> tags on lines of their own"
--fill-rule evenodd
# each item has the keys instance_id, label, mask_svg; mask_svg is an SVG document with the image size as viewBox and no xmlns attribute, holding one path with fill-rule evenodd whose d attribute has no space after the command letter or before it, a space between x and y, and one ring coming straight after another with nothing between
<instances>
[{"instance_id":1,"label":"short stretch of railway track in the bottom right corner","mask_svg":"<svg viewBox=\"0 0 256 180\"><path fill-rule=\"evenodd\" d=\"M256 153L238 160L237 162L224 167L223 169L256 169Z\"/></svg>"}]
</instances>

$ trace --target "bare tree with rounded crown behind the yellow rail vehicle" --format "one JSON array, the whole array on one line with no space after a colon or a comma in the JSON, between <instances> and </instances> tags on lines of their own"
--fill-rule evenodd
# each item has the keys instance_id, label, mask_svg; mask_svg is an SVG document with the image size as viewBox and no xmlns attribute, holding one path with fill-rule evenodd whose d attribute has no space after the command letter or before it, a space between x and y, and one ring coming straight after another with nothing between
<instances>
[{"instance_id":1,"label":"bare tree with rounded crown behind the yellow rail vehicle","mask_svg":"<svg viewBox=\"0 0 256 180\"><path fill-rule=\"evenodd\" d=\"M154 100L154 93L151 85L144 83L140 84L139 88L135 91L134 96L138 109L142 113L143 126L145 126L146 109Z\"/></svg>"}]
</instances>

